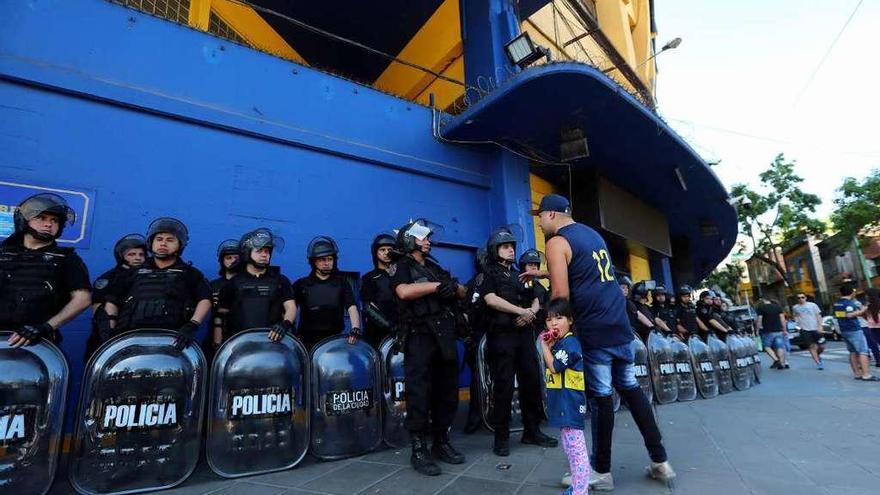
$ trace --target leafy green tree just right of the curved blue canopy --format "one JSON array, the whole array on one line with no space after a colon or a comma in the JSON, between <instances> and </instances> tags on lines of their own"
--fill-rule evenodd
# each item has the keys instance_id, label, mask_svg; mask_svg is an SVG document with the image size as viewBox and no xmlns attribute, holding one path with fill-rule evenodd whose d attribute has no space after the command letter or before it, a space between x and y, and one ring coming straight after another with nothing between
<instances>
[{"instance_id":1,"label":"leafy green tree just right of the curved blue canopy","mask_svg":"<svg viewBox=\"0 0 880 495\"><path fill-rule=\"evenodd\" d=\"M731 196L739 202L740 230L751 240L749 258L770 265L786 287L790 286L788 273L775 253L792 239L825 231L825 224L813 217L822 200L801 190L804 179L795 173L795 164L780 153L759 176L761 190L752 190L745 184L736 184L731 190Z\"/></svg>"}]
</instances>

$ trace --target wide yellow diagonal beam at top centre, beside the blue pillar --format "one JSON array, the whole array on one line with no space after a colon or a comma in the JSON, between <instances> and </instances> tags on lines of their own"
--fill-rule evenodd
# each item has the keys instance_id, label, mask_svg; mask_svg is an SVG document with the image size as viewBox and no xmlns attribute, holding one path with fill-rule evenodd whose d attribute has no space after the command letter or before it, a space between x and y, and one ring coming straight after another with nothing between
<instances>
[{"instance_id":1,"label":"wide yellow diagonal beam at top centre, beside the blue pillar","mask_svg":"<svg viewBox=\"0 0 880 495\"><path fill-rule=\"evenodd\" d=\"M444 75L450 71L451 75L451 73L457 73L459 67L461 67L461 73L464 73L464 63L460 61L462 53L458 0L445 0L415 36L409 40L397 58L429 67ZM452 75L452 77L457 76ZM443 101L450 103L464 90L459 85L447 81L435 81L435 79L434 76L418 69L392 62L376 79L375 86L409 100L418 98L420 101L427 101L428 94L432 92L438 96L439 100L442 94ZM433 89L428 90L432 86ZM452 97L452 94L455 96ZM439 103L438 106L444 107Z\"/></svg>"}]
</instances>

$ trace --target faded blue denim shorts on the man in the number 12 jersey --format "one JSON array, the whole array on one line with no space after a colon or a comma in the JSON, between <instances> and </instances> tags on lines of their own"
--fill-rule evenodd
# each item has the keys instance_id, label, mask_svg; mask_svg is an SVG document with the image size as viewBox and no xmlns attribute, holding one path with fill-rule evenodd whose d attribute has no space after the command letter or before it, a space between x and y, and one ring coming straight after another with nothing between
<instances>
[{"instance_id":1,"label":"faded blue denim shorts on the man in the number 12 jersey","mask_svg":"<svg viewBox=\"0 0 880 495\"><path fill-rule=\"evenodd\" d=\"M610 397L611 387L617 390L639 388L633 365L635 356L629 344L586 349L584 374L591 397Z\"/></svg>"}]
</instances>

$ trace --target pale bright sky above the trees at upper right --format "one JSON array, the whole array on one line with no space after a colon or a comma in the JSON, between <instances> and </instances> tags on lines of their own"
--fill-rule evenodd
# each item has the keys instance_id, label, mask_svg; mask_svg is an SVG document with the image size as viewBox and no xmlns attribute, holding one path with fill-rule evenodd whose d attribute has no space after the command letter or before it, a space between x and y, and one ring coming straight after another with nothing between
<instances>
[{"instance_id":1,"label":"pale bright sky above the trees at upper right","mask_svg":"<svg viewBox=\"0 0 880 495\"><path fill-rule=\"evenodd\" d=\"M656 0L661 116L730 188L778 153L834 209L844 177L880 168L880 0Z\"/></svg>"}]
</instances>

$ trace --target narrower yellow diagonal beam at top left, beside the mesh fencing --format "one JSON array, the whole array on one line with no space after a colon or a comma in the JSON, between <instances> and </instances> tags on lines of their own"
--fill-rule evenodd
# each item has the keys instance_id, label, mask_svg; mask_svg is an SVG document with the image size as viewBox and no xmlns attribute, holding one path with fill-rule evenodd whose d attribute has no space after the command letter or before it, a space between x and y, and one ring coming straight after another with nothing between
<instances>
[{"instance_id":1,"label":"narrower yellow diagonal beam at top left, beside the mesh fencing","mask_svg":"<svg viewBox=\"0 0 880 495\"><path fill-rule=\"evenodd\" d=\"M230 0L212 0L211 9L254 48L306 65L305 59L254 9Z\"/></svg>"}]
</instances>

